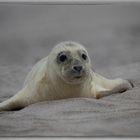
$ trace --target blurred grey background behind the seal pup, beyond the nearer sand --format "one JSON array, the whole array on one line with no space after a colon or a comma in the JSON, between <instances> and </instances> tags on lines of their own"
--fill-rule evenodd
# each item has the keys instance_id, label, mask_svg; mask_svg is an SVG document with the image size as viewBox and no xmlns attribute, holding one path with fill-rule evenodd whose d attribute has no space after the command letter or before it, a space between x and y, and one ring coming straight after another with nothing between
<instances>
[{"instance_id":1,"label":"blurred grey background behind the seal pup, beyond the nearer sand","mask_svg":"<svg viewBox=\"0 0 140 140\"><path fill-rule=\"evenodd\" d=\"M0 4L0 65L33 65L61 41L85 45L96 68L140 61L140 4Z\"/></svg>"}]
</instances>

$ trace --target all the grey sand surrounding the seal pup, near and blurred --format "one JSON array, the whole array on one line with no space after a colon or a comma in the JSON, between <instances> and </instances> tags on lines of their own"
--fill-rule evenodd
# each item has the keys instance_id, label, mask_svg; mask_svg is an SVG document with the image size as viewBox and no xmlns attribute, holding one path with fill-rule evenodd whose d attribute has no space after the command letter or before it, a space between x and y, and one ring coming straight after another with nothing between
<instances>
[{"instance_id":1,"label":"all the grey sand surrounding the seal pup, near and blurred","mask_svg":"<svg viewBox=\"0 0 140 140\"><path fill-rule=\"evenodd\" d=\"M64 99L0 112L0 136L140 136L140 5L0 4L0 101L60 41L89 51L93 68L134 88L96 100Z\"/></svg>"}]
</instances>

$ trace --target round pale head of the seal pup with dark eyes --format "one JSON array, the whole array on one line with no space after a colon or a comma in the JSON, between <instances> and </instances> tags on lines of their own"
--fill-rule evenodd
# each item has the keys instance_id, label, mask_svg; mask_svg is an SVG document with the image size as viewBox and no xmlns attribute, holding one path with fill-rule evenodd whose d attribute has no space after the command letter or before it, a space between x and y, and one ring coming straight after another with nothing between
<instances>
[{"instance_id":1,"label":"round pale head of the seal pup with dark eyes","mask_svg":"<svg viewBox=\"0 0 140 140\"><path fill-rule=\"evenodd\" d=\"M82 83L90 71L86 49L76 42L62 42L50 53L52 73L69 84ZM51 66L51 67L52 67Z\"/></svg>"}]
</instances>

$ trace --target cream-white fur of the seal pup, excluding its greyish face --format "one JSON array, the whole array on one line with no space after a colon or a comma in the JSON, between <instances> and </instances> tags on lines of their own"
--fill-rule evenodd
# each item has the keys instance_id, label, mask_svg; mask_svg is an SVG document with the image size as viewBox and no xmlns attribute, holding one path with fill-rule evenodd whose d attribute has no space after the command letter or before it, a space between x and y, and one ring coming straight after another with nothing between
<instances>
[{"instance_id":1,"label":"cream-white fur of the seal pup, excluding its greyish face","mask_svg":"<svg viewBox=\"0 0 140 140\"><path fill-rule=\"evenodd\" d=\"M67 47L70 45L71 47ZM76 42L62 42L51 51L48 57L40 60L27 75L24 87L12 98L0 103L0 111L15 110L30 104L74 97L101 98L113 93L123 92L132 86L127 80L110 80L92 71L89 62L89 75L81 84L68 84L58 75L61 73L52 63L61 50L75 53L77 49L86 49Z\"/></svg>"}]
</instances>

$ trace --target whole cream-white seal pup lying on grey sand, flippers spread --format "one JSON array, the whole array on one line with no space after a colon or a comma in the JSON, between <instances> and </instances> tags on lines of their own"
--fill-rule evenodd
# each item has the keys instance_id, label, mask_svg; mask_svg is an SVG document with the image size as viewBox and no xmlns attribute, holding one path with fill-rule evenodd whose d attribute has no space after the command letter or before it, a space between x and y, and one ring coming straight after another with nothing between
<instances>
[{"instance_id":1,"label":"whole cream-white seal pup lying on grey sand, flippers spread","mask_svg":"<svg viewBox=\"0 0 140 140\"><path fill-rule=\"evenodd\" d=\"M62 42L32 68L21 91L0 103L0 111L17 110L45 100L98 99L131 88L127 80L110 80L95 73L81 44Z\"/></svg>"}]
</instances>

